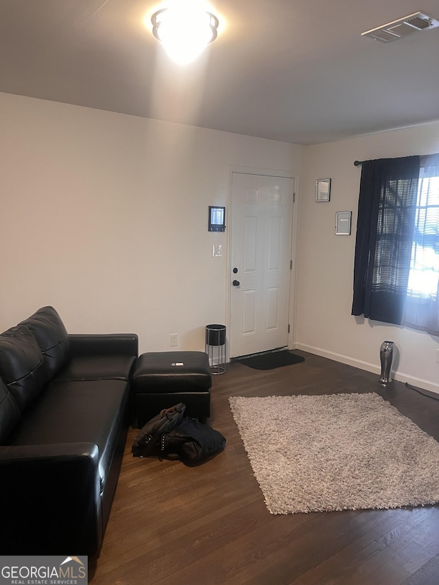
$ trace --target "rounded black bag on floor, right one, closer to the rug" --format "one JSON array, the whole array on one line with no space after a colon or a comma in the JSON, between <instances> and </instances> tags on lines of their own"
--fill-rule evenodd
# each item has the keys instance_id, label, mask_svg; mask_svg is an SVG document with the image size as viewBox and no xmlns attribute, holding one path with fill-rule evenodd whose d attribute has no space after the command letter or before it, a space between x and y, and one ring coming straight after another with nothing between
<instances>
[{"instance_id":1,"label":"rounded black bag on floor, right one, closer to the rug","mask_svg":"<svg viewBox=\"0 0 439 585\"><path fill-rule=\"evenodd\" d=\"M200 465L224 450L226 438L199 422L185 416L174 430L162 437L162 457L178 459L188 466Z\"/></svg>"}]
</instances>

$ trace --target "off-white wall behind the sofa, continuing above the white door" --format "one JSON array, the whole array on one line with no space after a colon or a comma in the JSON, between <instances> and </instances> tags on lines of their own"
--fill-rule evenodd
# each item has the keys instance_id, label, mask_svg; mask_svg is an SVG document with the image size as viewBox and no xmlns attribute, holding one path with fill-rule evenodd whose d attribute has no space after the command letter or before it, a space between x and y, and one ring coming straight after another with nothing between
<instances>
[{"instance_id":1,"label":"off-white wall behind the sofa, continuing above the white door","mask_svg":"<svg viewBox=\"0 0 439 585\"><path fill-rule=\"evenodd\" d=\"M226 323L230 167L297 175L302 147L0 93L0 331L54 305L71 333L204 350ZM222 258L212 244L222 243Z\"/></svg>"}]
</instances>

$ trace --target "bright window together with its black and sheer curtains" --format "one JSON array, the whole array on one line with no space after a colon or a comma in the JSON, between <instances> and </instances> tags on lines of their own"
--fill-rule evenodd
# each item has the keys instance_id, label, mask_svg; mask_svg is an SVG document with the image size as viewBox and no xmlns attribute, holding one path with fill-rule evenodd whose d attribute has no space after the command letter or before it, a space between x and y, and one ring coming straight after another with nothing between
<instances>
[{"instance_id":1,"label":"bright window together with its black and sheer curtains","mask_svg":"<svg viewBox=\"0 0 439 585\"><path fill-rule=\"evenodd\" d=\"M353 315L439 335L439 154L361 169Z\"/></svg>"}]
</instances>

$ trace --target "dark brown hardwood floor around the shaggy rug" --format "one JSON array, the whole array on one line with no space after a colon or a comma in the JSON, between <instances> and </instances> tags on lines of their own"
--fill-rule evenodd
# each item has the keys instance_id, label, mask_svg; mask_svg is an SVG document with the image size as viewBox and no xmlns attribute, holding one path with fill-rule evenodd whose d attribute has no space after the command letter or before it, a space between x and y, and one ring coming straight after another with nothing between
<instances>
[{"instance_id":1,"label":"dark brown hardwood floor around the shaggy rug","mask_svg":"<svg viewBox=\"0 0 439 585\"><path fill-rule=\"evenodd\" d=\"M227 446L202 466L132 457L130 429L93 585L438 585L439 505L268 512L229 396L377 392L439 440L439 400L297 353L304 363L268 371L231 363L213 377L209 422Z\"/></svg>"}]
</instances>

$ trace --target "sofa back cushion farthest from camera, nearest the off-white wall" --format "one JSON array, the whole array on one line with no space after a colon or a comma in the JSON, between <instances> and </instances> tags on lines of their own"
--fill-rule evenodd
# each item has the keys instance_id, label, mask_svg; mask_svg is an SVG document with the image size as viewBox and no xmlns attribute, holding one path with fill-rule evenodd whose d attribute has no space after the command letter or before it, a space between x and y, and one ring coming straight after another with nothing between
<instances>
[{"instance_id":1,"label":"sofa back cushion farthest from camera, nearest the off-white wall","mask_svg":"<svg viewBox=\"0 0 439 585\"><path fill-rule=\"evenodd\" d=\"M52 379L69 361L69 334L60 315L54 307L42 307L20 325L25 325L32 331L43 354L47 377Z\"/></svg>"}]
</instances>

